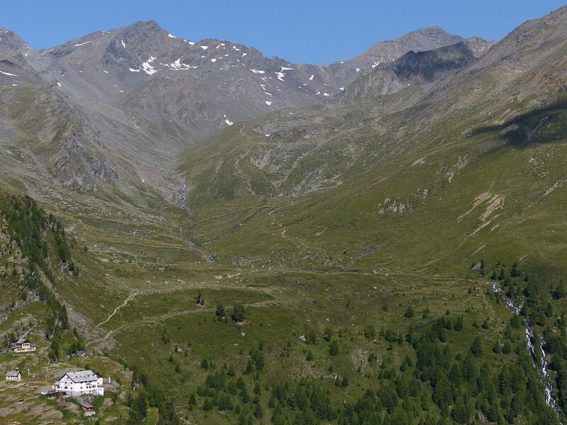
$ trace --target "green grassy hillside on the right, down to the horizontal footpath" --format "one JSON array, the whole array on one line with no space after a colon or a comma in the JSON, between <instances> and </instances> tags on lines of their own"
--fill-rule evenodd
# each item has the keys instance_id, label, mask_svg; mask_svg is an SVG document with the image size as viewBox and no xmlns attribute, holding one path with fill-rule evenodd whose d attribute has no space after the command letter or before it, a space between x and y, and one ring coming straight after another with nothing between
<instances>
[{"instance_id":1,"label":"green grassy hillside on the right, down to the horizontal footpath","mask_svg":"<svg viewBox=\"0 0 567 425\"><path fill-rule=\"evenodd\" d=\"M563 114L546 116L551 117L548 128L563 125ZM254 267L401 266L454 273L485 255L521 257L564 273L559 261L567 154L563 134L540 132L519 144L503 137L500 128L455 136L462 133L457 125L445 124L434 130L431 142L308 198L254 195L238 186L245 179L236 171L230 174L235 185L226 185L244 191L239 198L228 203L213 192L204 200L198 190L210 176L192 172L203 181L196 183L194 198L189 196L195 208L189 229L215 241L210 249L221 261ZM218 174L213 181L220 187L226 177ZM473 208L482 194L490 195Z\"/></svg>"}]
</instances>

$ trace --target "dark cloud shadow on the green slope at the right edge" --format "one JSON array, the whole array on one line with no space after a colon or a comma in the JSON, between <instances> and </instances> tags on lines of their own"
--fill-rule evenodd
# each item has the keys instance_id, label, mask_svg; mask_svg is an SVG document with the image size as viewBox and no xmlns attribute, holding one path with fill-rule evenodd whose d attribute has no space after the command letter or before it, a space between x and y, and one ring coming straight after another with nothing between
<instances>
[{"instance_id":1,"label":"dark cloud shadow on the green slope at the right edge","mask_svg":"<svg viewBox=\"0 0 567 425\"><path fill-rule=\"evenodd\" d=\"M557 142L567 137L567 101L518 115L503 125L475 128L468 136L489 132L499 132L500 137L514 147Z\"/></svg>"}]
</instances>

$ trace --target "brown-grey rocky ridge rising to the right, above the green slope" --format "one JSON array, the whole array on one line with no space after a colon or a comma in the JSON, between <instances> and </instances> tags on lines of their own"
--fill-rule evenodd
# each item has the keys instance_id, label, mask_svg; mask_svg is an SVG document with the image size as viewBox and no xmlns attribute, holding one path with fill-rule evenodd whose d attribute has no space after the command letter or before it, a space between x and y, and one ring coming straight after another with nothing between
<instances>
[{"instance_id":1,"label":"brown-grey rocky ridge rising to the right, above the green slope","mask_svg":"<svg viewBox=\"0 0 567 425\"><path fill-rule=\"evenodd\" d=\"M445 128L451 129L454 143L495 130L517 147L561 140L567 134L565 35L567 7L525 23L501 42L461 40L370 67L360 72L344 96L335 96L325 106L296 109L293 115L280 111L245 123L258 136L252 145L243 148L240 137L220 132L198 152L189 148L185 170L193 196L221 183L213 171L210 180L204 173L193 174L191 170L203 159L189 158L226 162L226 140L245 149L245 161L254 166L254 173L245 179L242 171L231 174L231 182L242 179L248 186L282 197L352 183L382 162L422 149ZM470 162L467 155L458 158L440 173L448 184ZM423 160L412 163L417 166ZM552 187L562 182L558 179ZM427 192L417 193L415 198L425 196Z\"/></svg>"}]
</instances>

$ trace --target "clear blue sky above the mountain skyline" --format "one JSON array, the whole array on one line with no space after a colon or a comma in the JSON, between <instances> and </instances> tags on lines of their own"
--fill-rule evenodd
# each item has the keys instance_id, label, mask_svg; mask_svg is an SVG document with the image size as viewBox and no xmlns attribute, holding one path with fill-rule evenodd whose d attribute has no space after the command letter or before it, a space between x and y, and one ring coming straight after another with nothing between
<instances>
[{"instance_id":1,"label":"clear blue sky above the mountain skyline","mask_svg":"<svg viewBox=\"0 0 567 425\"><path fill-rule=\"evenodd\" d=\"M28 0L3 1L0 27L35 48L155 19L189 40L220 38L291 62L328 64L418 28L500 40L566 0Z\"/></svg>"}]
</instances>

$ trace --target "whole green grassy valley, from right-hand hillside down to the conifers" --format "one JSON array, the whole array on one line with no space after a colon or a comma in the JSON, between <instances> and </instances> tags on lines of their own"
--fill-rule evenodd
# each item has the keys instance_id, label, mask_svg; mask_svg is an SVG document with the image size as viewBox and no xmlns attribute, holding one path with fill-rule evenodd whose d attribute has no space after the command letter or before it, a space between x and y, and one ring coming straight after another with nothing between
<instances>
[{"instance_id":1,"label":"whole green grassy valley, from right-hand hillside down to the conifers","mask_svg":"<svg viewBox=\"0 0 567 425\"><path fill-rule=\"evenodd\" d=\"M486 295L490 283L477 283L468 266L481 257L489 268L498 260L510 265L522 259L527 268L548 269L547 276L564 273L565 189L544 194L561 183L567 152L562 139L517 146L498 130L455 137L462 133L459 125L437 129L428 143L406 154L361 167L355 179L338 188L293 199L271 198L269 191L258 189L264 176L249 166L237 168L246 151L239 145L235 149L229 139L232 152L223 154L218 170L216 164L203 166L205 161L202 171L193 170L214 184L190 193L192 217L167 208L162 213L167 220L137 222L130 218L136 211L101 219L86 201L82 215L63 215L78 238L75 257L82 273L60 283L57 291L90 322L94 344L89 348L139 365L156 385L171 388L176 409L197 422L236 420L215 410L186 410L189 395L208 372L201 360L228 363L240 374L247 352L259 341L266 346L268 365L262 380L311 376L330 391L334 403L374 385L378 366L357 372L353 353L358 348L394 367L410 353L404 344L389 350L379 334L366 339L363 330L369 324L376 331L384 327L404 334L446 310L451 317L464 313L465 331L449 333L451 347L466 353L480 334L485 360L500 364L504 358L491 353L490 346L503 339L511 313L495 305ZM242 140L236 125L230 130ZM481 203L464 220L457 219L481 193L503 196L504 205L488 216L490 225L467 238L482 224L488 205ZM179 226L198 242L197 249L179 236ZM218 255L212 266L203 259L210 252ZM198 290L205 307L192 302ZM248 323L216 322L213 310L219 302L228 310L235 302L247 305ZM415 306L417 317L403 317L408 305ZM423 321L420 312L426 307L431 318ZM487 317L488 331L472 326ZM321 339L327 326L342 335L336 357L329 356ZM310 331L318 336L315 346L298 339ZM288 357L281 357L288 341ZM181 351L175 352L175 346ZM309 362L308 350L314 355ZM328 371L331 363L351 385L337 390ZM254 381L245 379L252 388ZM266 393L261 397L264 406L267 398Z\"/></svg>"}]
</instances>

